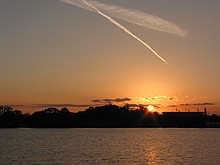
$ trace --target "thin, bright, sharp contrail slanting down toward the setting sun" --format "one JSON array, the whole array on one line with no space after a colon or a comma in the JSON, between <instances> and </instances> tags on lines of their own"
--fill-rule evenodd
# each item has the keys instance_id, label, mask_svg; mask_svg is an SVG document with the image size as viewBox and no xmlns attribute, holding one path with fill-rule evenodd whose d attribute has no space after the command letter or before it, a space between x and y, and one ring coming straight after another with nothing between
<instances>
[{"instance_id":1,"label":"thin, bright, sharp contrail slanting down toward the setting sun","mask_svg":"<svg viewBox=\"0 0 220 165\"><path fill-rule=\"evenodd\" d=\"M93 8L94 10L97 11L97 13L99 13L101 16L105 17L107 20L109 20L111 23L113 23L114 25L116 25L117 27L119 27L120 29L122 29L125 33L129 34L130 36L132 36L133 38L135 38L137 41L139 41L140 43L142 43L144 46L146 46L148 49L150 49L150 51L152 51L159 59L161 59L163 62L165 62L166 64L168 64L168 62L163 59L155 50L153 50L148 44L146 44L144 41L142 41L140 38L138 38L136 35L134 35L132 32L130 32L126 27L122 26L120 23L118 23L117 21L115 21L114 19L112 19L111 17L107 16L106 14L102 13L100 10L98 10L96 7L92 6L91 4L89 4L87 1L82 0L86 5L90 6L91 8ZM169 65L169 64L168 64Z\"/></svg>"}]
</instances>

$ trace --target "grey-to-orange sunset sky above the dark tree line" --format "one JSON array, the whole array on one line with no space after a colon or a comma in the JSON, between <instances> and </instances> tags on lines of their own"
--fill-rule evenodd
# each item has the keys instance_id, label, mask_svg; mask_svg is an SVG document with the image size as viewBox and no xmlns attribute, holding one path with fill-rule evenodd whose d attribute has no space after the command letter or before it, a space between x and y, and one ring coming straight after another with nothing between
<instances>
[{"instance_id":1,"label":"grey-to-orange sunset sky above the dark tree line","mask_svg":"<svg viewBox=\"0 0 220 165\"><path fill-rule=\"evenodd\" d=\"M0 1L0 105L220 114L219 0L64 1Z\"/></svg>"}]
</instances>

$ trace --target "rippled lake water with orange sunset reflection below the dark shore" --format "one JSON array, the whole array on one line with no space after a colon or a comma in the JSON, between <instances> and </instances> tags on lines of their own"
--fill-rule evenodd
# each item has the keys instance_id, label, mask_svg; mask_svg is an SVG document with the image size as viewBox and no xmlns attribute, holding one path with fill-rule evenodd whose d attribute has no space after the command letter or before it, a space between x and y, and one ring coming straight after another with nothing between
<instances>
[{"instance_id":1,"label":"rippled lake water with orange sunset reflection below the dark shore","mask_svg":"<svg viewBox=\"0 0 220 165\"><path fill-rule=\"evenodd\" d=\"M220 129L0 129L0 164L220 164Z\"/></svg>"}]
</instances>

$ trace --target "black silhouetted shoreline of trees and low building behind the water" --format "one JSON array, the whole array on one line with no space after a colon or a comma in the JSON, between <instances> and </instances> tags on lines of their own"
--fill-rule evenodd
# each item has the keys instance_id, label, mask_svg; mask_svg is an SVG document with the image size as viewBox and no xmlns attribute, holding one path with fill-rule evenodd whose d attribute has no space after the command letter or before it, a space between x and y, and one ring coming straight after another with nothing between
<instances>
[{"instance_id":1,"label":"black silhouetted shoreline of trees and low building behind the water","mask_svg":"<svg viewBox=\"0 0 220 165\"><path fill-rule=\"evenodd\" d=\"M70 112L67 108L47 108L24 114L9 106L0 106L0 128L130 128L130 127L219 127L220 116L172 117L145 108L129 109L128 105L89 107Z\"/></svg>"}]
</instances>

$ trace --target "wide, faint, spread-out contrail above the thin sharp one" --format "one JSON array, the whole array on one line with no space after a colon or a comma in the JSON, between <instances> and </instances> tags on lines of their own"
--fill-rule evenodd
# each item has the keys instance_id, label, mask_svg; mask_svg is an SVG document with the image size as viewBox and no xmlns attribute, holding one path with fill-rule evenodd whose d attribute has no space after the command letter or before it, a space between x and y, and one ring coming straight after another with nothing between
<instances>
[{"instance_id":1,"label":"wide, faint, spread-out contrail above the thin sharp one","mask_svg":"<svg viewBox=\"0 0 220 165\"><path fill-rule=\"evenodd\" d=\"M94 8L91 8L90 6L85 4L82 0L60 0L60 1L77 6L84 10L97 12ZM187 35L187 31L181 29L178 25L169 22L165 19L159 18L157 16L135 9L127 9L121 6L100 3L95 0L86 0L86 1L90 5L94 6L99 11L104 12L106 15L110 17L118 18L139 26L143 26L145 28L172 33L182 37Z\"/></svg>"}]
</instances>

